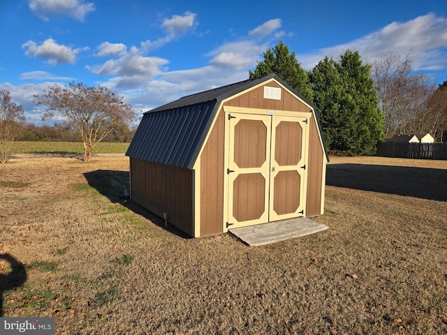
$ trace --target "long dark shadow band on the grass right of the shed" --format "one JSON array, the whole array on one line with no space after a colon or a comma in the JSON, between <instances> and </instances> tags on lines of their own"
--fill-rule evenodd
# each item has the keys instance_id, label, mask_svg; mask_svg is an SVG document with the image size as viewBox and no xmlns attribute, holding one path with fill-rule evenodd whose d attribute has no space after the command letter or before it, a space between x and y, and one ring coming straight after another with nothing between
<instances>
[{"instance_id":1,"label":"long dark shadow band on the grass right of the shed","mask_svg":"<svg viewBox=\"0 0 447 335\"><path fill-rule=\"evenodd\" d=\"M351 163L327 168L326 185L447 201L447 170Z\"/></svg>"}]
</instances>

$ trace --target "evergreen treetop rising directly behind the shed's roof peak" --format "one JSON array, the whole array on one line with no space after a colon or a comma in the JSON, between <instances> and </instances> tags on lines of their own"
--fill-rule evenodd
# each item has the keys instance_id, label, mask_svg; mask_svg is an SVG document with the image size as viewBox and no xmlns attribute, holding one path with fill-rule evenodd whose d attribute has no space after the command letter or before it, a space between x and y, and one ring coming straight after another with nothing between
<instances>
[{"instance_id":1,"label":"evergreen treetop rising directly behind the shed's roof peak","mask_svg":"<svg viewBox=\"0 0 447 335\"><path fill-rule=\"evenodd\" d=\"M295 91L312 101L312 89L309 85L309 75L298 63L295 52L290 53L288 45L278 43L274 49L264 52L264 60L258 61L254 71L249 70L250 79L276 73L284 82Z\"/></svg>"}]
</instances>

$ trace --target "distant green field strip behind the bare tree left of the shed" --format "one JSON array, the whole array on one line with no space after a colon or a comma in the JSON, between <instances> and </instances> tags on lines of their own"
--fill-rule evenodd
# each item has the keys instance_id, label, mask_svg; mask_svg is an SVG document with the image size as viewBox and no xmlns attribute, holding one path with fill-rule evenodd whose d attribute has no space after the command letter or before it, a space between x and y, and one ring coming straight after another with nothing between
<instances>
[{"instance_id":1,"label":"distant green field strip behind the bare tree left of the shed","mask_svg":"<svg viewBox=\"0 0 447 335\"><path fill-rule=\"evenodd\" d=\"M129 143L100 142L94 147L94 154L121 154ZM82 154L82 142L13 142L11 154Z\"/></svg>"}]
</instances>

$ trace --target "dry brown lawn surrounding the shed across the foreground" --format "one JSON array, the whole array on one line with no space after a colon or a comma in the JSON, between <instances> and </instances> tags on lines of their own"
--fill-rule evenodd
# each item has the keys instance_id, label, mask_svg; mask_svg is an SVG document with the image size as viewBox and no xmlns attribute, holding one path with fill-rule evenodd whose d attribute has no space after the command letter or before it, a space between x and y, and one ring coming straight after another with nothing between
<instances>
[{"instance_id":1,"label":"dry brown lawn surrounding the shed across the foreground","mask_svg":"<svg viewBox=\"0 0 447 335\"><path fill-rule=\"evenodd\" d=\"M0 253L27 271L4 316L54 316L56 334L447 333L446 161L332 158L316 218L330 229L253 248L125 207L128 170L0 166Z\"/></svg>"}]
</instances>

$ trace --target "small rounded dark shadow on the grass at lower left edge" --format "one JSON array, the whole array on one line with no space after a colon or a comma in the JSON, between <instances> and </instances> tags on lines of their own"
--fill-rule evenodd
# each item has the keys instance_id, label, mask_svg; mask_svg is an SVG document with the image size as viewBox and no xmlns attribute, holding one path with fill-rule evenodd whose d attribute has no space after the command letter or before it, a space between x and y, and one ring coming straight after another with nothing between
<instances>
[{"instance_id":1,"label":"small rounded dark shadow on the grass at lower left edge","mask_svg":"<svg viewBox=\"0 0 447 335\"><path fill-rule=\"evenodd\" d=\"M24 265L9 253L1 253L0 260L5 260L10 267L8 273L0 272L0 317L3 316L3 292L22 286L27 281Z\"/></svg>"}]
</instances>

